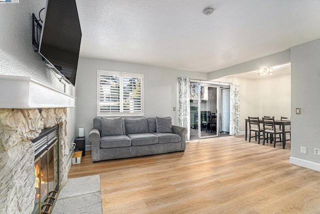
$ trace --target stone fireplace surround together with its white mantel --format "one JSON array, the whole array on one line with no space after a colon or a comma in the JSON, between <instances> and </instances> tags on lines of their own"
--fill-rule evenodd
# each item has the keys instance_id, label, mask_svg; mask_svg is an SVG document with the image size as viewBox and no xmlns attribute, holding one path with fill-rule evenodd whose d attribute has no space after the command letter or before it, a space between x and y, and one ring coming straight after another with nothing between
<instances>
[{"instance_id":1,"label":"stone fireplace surround together with its white mantel","mask_svg":"<svg viewBox=\"0 0 320 214\"><path fill-rule=\"evenodd\" d=\"M0 91L3 92L1 86L8 84L16 88L12 87L14 82L19 84L18 88L24 85L19 88L24 93L22 102L17 102L21 95L14 90L9 95L9 91L0 94L0 213L31 213L35 175L34 145L30 140L39 136L43 128L59 125L59 186L62 188L67 180L70 153L66 107L74 107L74 98L25 77L0 75ZM45 96L45 104L43 99L39 99L42 103L36 103L36 96ZM8 98L13 100L11 108Z\"/></svg>"}]
</instances>

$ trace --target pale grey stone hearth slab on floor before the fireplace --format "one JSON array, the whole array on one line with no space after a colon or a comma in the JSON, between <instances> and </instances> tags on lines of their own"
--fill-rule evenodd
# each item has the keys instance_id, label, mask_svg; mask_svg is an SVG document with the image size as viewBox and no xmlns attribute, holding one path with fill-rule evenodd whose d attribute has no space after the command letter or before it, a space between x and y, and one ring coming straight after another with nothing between
<instances>
[{"instance_id":1,"label":"pale grey stone hearth slab on floor before the fireplace","mask_svg":"<svg viewBox=\"0 0 320 214\"><path fill-rule=\"evenodd\" d=\"M51 213L102 213L100 176L68 179Z\"/></svg>"}]
</instances>

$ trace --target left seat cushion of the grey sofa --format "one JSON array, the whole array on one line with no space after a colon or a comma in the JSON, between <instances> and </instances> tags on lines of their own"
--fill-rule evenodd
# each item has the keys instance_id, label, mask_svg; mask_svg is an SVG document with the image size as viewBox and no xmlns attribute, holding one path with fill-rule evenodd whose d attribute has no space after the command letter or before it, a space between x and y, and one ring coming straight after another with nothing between
<instances>
[{"instance_id":1,"label":"left seat cushion of the grey sofa","mask_svg":"<svg viewBox=\"0 0 320 214\"><path fill-rule=\"evenodd\" d=\"M110 135L100 138L101 148L127 147L131 145L131 140L126 135Z\"/></svg>"}]
</instances>

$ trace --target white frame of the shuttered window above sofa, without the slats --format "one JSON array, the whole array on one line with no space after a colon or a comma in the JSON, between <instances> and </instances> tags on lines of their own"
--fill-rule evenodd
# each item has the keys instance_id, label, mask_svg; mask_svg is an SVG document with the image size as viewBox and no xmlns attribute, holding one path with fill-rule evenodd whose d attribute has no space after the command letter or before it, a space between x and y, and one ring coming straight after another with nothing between
<instances>
[{"instance_id":1,"label":"white frame of the shuttered window above sofa, without the slats","mask_svg":"<svg viewBox=\"0 0 320 214\"><path fill-rule=\"evenodd\" d=\"M118 112L100 112L100 76L116 76L120 78L119 83L119 111ZM140 108L139 112L123 112L123 78L140 78ZM96 115L97 116L143 116L143 97L144 97L144 89L143 89L143 74L137 73L126 73L126 72L118 72L118 71L105 71L105 70L97 70L97 83L96 83Z\"/></svg>"}]
</instances>

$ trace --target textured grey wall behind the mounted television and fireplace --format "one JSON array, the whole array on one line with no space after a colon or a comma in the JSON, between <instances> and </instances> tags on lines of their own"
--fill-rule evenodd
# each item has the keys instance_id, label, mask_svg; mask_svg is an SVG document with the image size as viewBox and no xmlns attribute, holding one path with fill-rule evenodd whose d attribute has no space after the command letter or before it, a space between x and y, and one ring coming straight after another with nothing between
<instances>
[{"instance_id":1,"label":"textured grey wall behind the mounted television and fireplace","mask_svg":"<svg viewBox=\"0 0 320 214\"><path fill-rule=\"evenodd\" d=\"M44 0L23 0L18 4L0 4L0 75L31 77L43 84L63 91L64 85L44 64L32 46L32 13L38 16L45 7ZM41 13L43 16L43 12ZM43 17L42 17L43 18ZM72 85L66 93L74 96ZM67 138L74 139L75 108L67 108Z\"/></svg>"}]
</instances>

